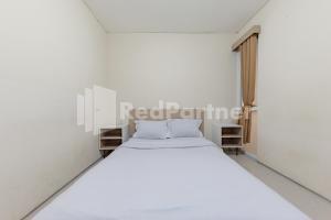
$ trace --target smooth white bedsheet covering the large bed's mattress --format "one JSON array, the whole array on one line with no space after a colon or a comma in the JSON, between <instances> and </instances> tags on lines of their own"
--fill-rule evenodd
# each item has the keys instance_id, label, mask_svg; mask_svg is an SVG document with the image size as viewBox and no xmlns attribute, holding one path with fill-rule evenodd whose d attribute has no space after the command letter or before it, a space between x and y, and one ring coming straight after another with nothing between
<instances>
[{"instance_id":1,"label":"smooth white bedsheet covering the large bed's mattress","mask_svg":"<svg viewBox=\"0 0 331 220\"><path fill-rule=\"evenodd\" d=\"M204 139L132 139L34 218L306 219L309 218Z\"/></svg>"}]
</instances>

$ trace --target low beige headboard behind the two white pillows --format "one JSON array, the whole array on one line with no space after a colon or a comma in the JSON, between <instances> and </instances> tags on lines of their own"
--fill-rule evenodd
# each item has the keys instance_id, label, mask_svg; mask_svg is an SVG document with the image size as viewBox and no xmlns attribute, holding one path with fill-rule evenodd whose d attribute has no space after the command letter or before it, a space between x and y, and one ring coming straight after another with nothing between
<instances>
[{"instance_id":1,"label":"low beige headboard behind the two white pillows","mask_svg":"<svg viewBox=\"0 0 331 220\"><path fill-rule=\"evenodd\" d=\"M202 109L132 109L129 116L128 132L136 132L136 120L160 121L167 119L201 119L200 131L204 134L204 110Z\"/></svg>"}]
</instances>

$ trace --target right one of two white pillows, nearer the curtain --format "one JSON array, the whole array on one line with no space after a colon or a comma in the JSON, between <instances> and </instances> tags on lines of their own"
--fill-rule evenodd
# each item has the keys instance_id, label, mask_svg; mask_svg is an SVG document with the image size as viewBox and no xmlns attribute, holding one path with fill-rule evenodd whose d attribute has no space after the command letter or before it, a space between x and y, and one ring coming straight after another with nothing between
<instances>
[{"instance_id":1,"label":"right one of two white pillows, nearer the curtain","mask_svg":"<svg viewBox=\"0 0 331 220\"><path fill-rule=\"evenodd\" d=\"M170 119L168 129L170 138L201 138L201 119Z\"/></svg>"}]
</instances>

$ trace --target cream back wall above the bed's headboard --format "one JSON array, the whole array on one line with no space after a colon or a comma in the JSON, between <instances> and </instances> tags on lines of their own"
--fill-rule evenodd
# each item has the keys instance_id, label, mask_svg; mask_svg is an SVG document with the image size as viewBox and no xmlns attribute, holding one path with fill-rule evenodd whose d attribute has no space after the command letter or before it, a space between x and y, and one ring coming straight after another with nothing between
<instances>
[{"instance_id":1,"label":"cream back wall above the bed's headboard","mask_svg":"<svg viewBox=\"0 0 331 220\"><path fill-rule=\"evenodd\" d=\"M109 34L108 87L136 108L159 100L235 107L233 41L232 34Z\"/></svg>"}]
</instances>

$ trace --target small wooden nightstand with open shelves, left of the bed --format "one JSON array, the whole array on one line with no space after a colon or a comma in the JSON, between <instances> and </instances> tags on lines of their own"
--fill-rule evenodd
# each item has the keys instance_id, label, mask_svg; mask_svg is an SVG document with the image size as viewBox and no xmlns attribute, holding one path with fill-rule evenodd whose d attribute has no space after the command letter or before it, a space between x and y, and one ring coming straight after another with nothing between
<instances>
[{"instance_id":1,"label":"small wooden nightstand with open shelves, left of the bed","mask_svg":"<svg viewBox=\"0 0 331 220\"><path fill-rule=\"evenodd\" d=\"M114 150L128 140L128 127L117 125L99 129L99 151L106 158Z\"/></svg>"}]
</instances>

